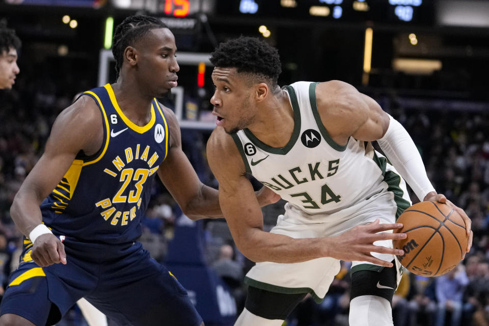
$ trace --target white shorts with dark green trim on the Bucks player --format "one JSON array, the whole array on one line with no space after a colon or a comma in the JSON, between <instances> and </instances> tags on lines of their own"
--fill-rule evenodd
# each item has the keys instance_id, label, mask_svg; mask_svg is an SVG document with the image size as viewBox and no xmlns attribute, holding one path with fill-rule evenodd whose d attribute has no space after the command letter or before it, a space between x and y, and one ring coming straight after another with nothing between
<instances>
[{"instance_id":1,"label":"white shorts with dark green trim on the Bucks player","mask_svg":"<svg viewBox=\"0 0 489 326\"><path fill-rule=\"evenodd\" d=\"M402 180L402 179L401 179ZM402 199L409 204L405 183ZM397 198L399 199L399 198ZM397 203L392 192L382 192L368 200L329 215L309 215L293 205L285 205L284 215L280 215L271 233L283 234L292 238L317 238L336 236L357 226L374 222L395 223ZM318 223L320 221L320 223ZM308 222L308 223L307 223ZM376 246L392 248L392 240L375 241ZM398 271L397 283L402 273L394 255L372 253L372 256L385 261L395 260ZM382 270L384 267L365 261L352 262L351 271ZM317 258L300 263L259 262L246 275L248 285L279 293L311 293L316 302L321 302L328 292L331 282L340 271L340 261L331 258Z\"/></svg>"}]
</instances>

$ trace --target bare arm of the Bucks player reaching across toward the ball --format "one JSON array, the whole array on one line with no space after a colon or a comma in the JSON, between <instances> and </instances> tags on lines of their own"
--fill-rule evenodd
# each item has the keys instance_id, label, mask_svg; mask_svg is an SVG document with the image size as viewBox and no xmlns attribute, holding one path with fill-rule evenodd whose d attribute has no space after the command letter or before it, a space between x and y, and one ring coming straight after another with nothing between
<instances>
[{"instance_id":1,"label":"bare arm of the Bucks player reaching across toward the ball","mask_svg":"<svg viewBox=\"0 0 489 326\"><path fill-rule=\"evenodd\" d=\"M234 241L239 250L255 262L293 263L334 257L391 267L390 262L377 259L370 252L402 254L396 249L373 245L377 240L404 238L403 233L382 232L399 228L399 224L379 224L376 221L327 238L294 239L265 232L263 215L253 187L245 176L244 163L231 137L220 127L212 132L207 143L207 158L219 180L219 199Z\"/></svg>"}]
</instances>

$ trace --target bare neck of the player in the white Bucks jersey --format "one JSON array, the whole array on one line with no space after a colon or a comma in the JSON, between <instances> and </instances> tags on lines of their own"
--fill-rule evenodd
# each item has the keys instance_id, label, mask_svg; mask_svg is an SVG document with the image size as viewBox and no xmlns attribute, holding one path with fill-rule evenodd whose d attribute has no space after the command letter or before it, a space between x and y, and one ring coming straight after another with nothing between
<instances>
[{"instance_id":1,"label":"bare neck of the player in the white Bucks jersey","mask_svg":"<svg viewBox=\"0 0 489 326\"><path fill-rule=\"evenodd\" d=\"M294 130L294 112L285 91L271 97L258 108L248 129L264 144L281 148L287 145Z\"/></svg>"}]
</instances>

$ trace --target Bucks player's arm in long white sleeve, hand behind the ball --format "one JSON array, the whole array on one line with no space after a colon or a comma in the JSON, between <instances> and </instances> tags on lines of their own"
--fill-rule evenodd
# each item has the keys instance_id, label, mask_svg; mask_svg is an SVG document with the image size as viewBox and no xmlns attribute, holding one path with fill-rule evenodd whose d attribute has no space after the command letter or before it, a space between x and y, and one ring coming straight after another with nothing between
<instances>
[{"instance_id":1,"label":"Bucks player's arm in long white sleeve, hand behind the ball","mask_svg":"<svg viewBox=\"0 0 489 326\"><path fill-rule=\"evenodd\" d=\"M419 200L447 203L460 213L469 237L469 252L472 246L469 217L463 209L436 193L426 175L421 155L404 127L385 113L372 98L338 80L319 84L316 96L321 120L334 140L346 143L350 136L361 141L377 140Z\"/></svg>"}]
</instances>

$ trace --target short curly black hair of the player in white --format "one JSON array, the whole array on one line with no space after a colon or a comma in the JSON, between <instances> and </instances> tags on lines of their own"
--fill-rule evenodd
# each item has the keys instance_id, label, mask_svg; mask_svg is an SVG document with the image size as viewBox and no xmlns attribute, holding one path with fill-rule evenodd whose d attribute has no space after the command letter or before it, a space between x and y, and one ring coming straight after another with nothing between
<instances>
[{"instance_id":1,"label":"short curly black hair of the player in white","mask_svg":"<svg viewBox=\"0 0 489 326\"><path fill-rule=\"evenodd\" d=\"M264 77L270 86L277 85L282 72L279 51L255 37L240 36L221 43L211 53L210 62L216 67Z\"/></svg>"}]
</instances>

